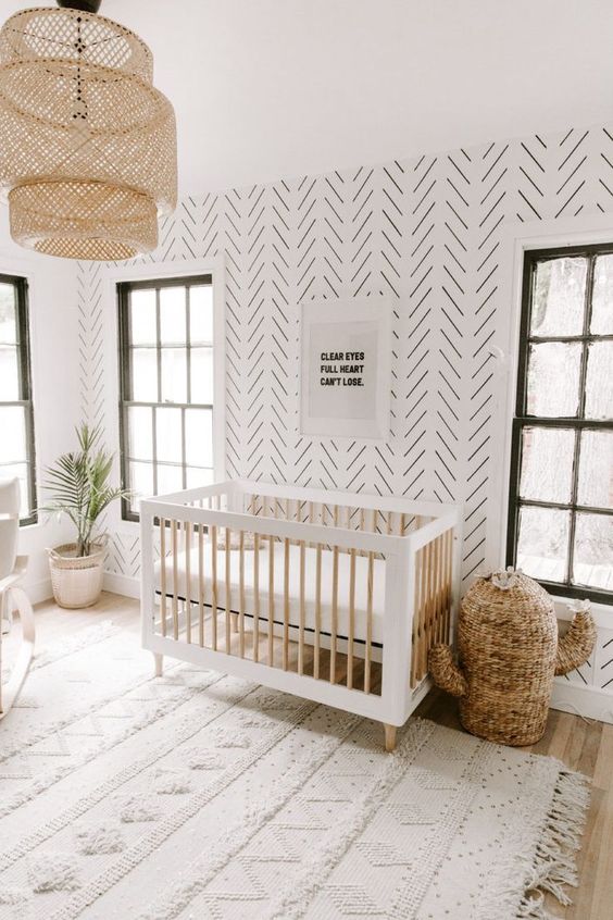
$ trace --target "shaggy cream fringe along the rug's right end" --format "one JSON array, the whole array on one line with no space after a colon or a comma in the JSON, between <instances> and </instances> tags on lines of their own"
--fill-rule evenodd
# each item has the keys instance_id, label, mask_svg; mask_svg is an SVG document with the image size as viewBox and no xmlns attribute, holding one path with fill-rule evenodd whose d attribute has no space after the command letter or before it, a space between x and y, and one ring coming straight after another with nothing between
<instances>
[{"instance_id":1,"label":"shaggy cream fringe along the rug's right end","mask_svg":"<svg viewBox=\"0 0 613 920\"><path fill-rule=\"evenodd\" d=\"M542 829L542 840L524 879L524 895L516 912L517 920L556 920L545 907L549 892L566 907L571 898L567 886L577 887L576 853L580 847L590 787L587 776L561 770L553 793L551 808Z\"/></svg>"}]
</instances>

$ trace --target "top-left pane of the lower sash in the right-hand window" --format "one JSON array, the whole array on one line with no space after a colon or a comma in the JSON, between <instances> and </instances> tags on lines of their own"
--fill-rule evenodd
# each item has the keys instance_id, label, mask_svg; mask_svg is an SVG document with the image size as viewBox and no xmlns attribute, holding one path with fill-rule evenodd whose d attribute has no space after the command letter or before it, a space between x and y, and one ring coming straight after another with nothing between
<instances>
[{"instance_id":1,"label":"top-left pane of the lower sash in the right-hand window","mask_svg":"<svg viewBox=\"0 0 613 920\"><path fill-rule=\"evenodd\" d=\"M520 495L536 501L566 503L572 497L575 432L524 428Z\"/></svg>"}]
</instances>

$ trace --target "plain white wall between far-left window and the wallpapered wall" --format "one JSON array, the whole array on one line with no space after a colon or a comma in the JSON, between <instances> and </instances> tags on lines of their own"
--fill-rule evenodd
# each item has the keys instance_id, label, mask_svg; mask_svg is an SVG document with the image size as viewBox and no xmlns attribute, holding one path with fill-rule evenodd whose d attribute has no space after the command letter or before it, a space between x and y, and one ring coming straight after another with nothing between
<instances>
[{"instance_id":1,"label":"plain white wall between far-left window and the wallpapered wall","mask_svg":"<svg viewBox=\"0 0 613 920\"><path fill-rule=\"evenodd\" d=\"M0 208L0 272L27 277L34 396L37 484L43 468L75 446L79 418L79 325L76 266L64 259L28 253L9 233L7 207ZM1 436L1 433L0 433ZM43 499L38 488L38 502ZM33 601L51 595L45 547L68 540L66 523L46 520L22 527L18 551L29 556L25 585Z\"/></svg>"}]
</instances>

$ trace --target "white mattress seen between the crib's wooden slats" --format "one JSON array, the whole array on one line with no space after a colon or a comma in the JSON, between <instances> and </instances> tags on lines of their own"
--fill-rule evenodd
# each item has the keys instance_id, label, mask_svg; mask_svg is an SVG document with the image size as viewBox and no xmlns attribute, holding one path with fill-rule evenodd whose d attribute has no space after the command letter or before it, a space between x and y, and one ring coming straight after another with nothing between
<instances>
[{"instance_id":1,"label":"white mattress seen between the crib's wooden slats","mask_svg":"<svg viewBox=\"0 0 613 920\"><path fill-rule=\"evenodd\" d=\"M261 549L259 554L260 574L260 621L267 623L268 620L268 586L270 586L270 548ZM273 621L279 625L284 623L285 608L285 547L280 543L274 545L274 583L273 583ZM253 616L254 610L254 551L245 549L245 613ZM239 559L238 549L230 549L229 569L229 609L238 612L239 606ZM300 547L289 547L289 624L298 626L300 623ZM189 586L187 585L186 554L177 554L177 579L176 594L182 600L190 599L192 604L199 604L200 584L198 575L198 548L190 552ZM338 554L338 613L337 635L341 638L349 634L349 585L350 585L350 556L347 552ZM333 560L334 554L329 549L322 550L322 595L321 595L321 631L330 634L333 616ZM209 542L203 552L203 602L211 607L212 599L212 549ZM316 549L306 547L304 550L304 625L306 630L315 627L315 592L316 592ZM375 559L373 577L373 621L372 641L373 645L383 645L383 623L385 611L385 562ZM166 557L166 596L172 597L175 590L173 583L173 563L171 557ZM354 639L366 641L367 622L367 579L368 559L365 556L355 557L355 614L354 614ZM161 562L154 567L155 590L161 594ZM226 550L217 550L217 607L226 607Z\"/></svg>"}]
</instances>

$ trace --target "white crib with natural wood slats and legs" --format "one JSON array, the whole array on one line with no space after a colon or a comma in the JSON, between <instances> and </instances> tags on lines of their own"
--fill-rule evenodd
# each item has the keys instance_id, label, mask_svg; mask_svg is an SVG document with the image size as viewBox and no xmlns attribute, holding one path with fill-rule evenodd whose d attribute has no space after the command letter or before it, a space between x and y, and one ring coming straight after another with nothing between
<instances>
[{"instance_id":1,"label":"white crib with natural wood slats and legs","mask_svg":"<svg viewBox=\"0 0 613 920\"><path fill-rule=\"evenodd\" d=\"M376 719L386 747L452 637L461 511L233 481L140 506L142 645Z\"/></svg>"}]
</instances>

